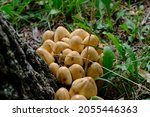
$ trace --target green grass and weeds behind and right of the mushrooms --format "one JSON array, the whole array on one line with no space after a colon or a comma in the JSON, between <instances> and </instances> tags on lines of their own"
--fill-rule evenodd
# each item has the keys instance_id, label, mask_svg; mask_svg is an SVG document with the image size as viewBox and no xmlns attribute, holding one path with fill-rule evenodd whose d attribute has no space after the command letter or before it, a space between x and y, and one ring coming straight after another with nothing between
<instances>
[{"instance_id":1,"label":"green grass and weeds behind and right of the mushrooms","mask_svg":"<svg viewBox=\"0 0 150 117\"><path fill-rule=\"evenodd\" d=\"M83 28L105 44L104 75L99 96L104 99L150 98L150 24L144 22L143 1L126 0L8 0L0 12L16 30L24 26L69 31ZM135 7L135 9L133 9ZM140 70L140 73L139 73ZM144 71L144 72L141 72ZM147 73L147 75L143 75Z\"/></svg>"}]
</instances>

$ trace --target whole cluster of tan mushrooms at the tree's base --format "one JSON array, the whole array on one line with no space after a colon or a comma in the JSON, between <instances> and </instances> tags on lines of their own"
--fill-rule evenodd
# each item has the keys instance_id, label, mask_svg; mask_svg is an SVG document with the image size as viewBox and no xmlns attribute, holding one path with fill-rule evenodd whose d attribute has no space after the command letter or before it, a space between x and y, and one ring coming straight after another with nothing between
<instances>
[{"instance_id":1,"label":"whole cluster of tan mushrooms at the tree's base","mask_svg":"<svg viewBox=\"0 0 150 117\"><path fill-rule=\"evenodd\" d=\"M103 75L103 44L98 37L80 28L70 33L59 26L55 32L45 31L42 38L37 54L61 84L70 86L59 88L55 99L87 100L96 96L95 79Z\"/></svg>"}]
</instances>

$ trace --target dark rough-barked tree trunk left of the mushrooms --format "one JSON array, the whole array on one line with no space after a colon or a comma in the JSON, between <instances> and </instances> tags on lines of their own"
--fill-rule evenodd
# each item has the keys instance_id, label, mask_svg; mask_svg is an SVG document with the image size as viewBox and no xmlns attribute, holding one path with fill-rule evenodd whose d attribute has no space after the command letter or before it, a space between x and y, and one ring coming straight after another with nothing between
<instances>
[{"instance_id":1,"label":"dark rough-barked tree trunk left of the mushrooms","mask_svg":"<svg viewBox=\"0 0 150 117\"><path fill-rule=\"evenodd\" d=\"M53 99L55 77L0 15L0 99Z\"/></svg>"}]
</instances>

